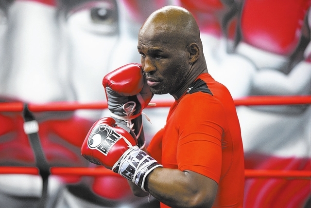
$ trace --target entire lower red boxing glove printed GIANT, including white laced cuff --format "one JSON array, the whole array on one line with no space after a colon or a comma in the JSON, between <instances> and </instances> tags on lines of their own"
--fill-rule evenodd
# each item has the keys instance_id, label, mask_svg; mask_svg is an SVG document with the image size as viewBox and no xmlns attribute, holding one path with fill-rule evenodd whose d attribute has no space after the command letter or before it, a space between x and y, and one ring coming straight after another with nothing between
<instances>
[{"instance_id":1,"label":"entire lower red boxing glove printed GIANT, including white laced cuff","mask_svg":"<svg viewBox=\"0 0 311 208\"><path fill-rule=\"evenodd\" d=\"M89 162L119 173L146 191L144 184L147 175L163 166L140 150L135 138L128 127L105 117L96 121L87 133L81 154Z\"/></svg>"}]
</instances>

